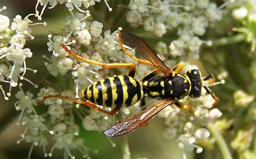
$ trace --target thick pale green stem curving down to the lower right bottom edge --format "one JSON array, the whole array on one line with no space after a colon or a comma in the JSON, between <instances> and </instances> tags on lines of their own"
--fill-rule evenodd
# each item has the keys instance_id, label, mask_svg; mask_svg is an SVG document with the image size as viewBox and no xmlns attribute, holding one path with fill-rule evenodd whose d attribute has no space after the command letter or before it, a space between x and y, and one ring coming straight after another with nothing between
<instances>
[{"instance_id":1,"label":"thick pale green stem curving down to the lower right bottom edge","mask_svg":"<svg viewBox=\"0 0 256 159\"><path fill-rule=\"evenodd\" d=\"M221 134L219 134L216 127L212 123L209 123L206 127L210 131L211 135L213 135L214 138L216 139L216 141L219 145L219 149L222 152L223 158L224 159L233 159L223 136L221 136Z\"/></svg>"}]
</instances>

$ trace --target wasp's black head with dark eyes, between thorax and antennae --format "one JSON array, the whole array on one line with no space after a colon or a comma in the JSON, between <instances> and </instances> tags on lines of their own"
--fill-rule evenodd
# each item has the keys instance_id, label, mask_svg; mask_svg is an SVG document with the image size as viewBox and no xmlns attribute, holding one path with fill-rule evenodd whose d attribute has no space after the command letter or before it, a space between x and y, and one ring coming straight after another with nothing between
<instances>
[{"instance_id":1,"label":"wasp's black head with dark eyes, between thorax and antennae","mask_svg":"<svg viewBox=\"0 0 256 159\"><path fill-rule=\"evenodd\" d=\"M186 75L191 81L191 91L189 96L192 98L197 98L202 95L202 78L198 70L189 70Z\"/></svg>"}]
</instances>

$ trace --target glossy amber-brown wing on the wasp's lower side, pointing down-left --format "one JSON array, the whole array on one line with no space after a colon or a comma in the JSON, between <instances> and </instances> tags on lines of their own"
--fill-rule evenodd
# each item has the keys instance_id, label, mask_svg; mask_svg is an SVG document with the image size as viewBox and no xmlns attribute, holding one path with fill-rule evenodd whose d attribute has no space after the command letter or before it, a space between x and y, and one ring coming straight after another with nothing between
<instances>
[{"instance_id":1,"label":"glossy amber-brown wing on the wasp's lower side, pointing down-left","mask_svg":"<svg viewBox=\"0 0 256 159\"><path fill-rule=\"evenodd\" d=\"M171 98L167 98L139 113L135 113L130 118L117 123L113 127L104 132L105 135L110 137L121 136L134 132L139 126L144 124L150 118L154 117L159 111L163 110L166 106L176 102Z\"/></svg>"}]
</instances>

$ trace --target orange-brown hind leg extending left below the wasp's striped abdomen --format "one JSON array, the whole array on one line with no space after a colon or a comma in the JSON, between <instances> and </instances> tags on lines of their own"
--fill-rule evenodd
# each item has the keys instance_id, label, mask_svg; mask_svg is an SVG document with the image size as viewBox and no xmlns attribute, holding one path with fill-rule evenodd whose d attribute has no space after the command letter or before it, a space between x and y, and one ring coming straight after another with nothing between
<instances>
[{"instance_id":1,"label":"orange-brown hind leg extending left below the wasp's striped abdomen","mask_svg":"<svg viewBox=\"0 0 256 159\"><path fill-rule=\"evenodd\" d=\"M62 98L62 99L67 99L67 100L70 100L70 101L73 101L73 102L76 102L76 103L79 103L79 104L82 104L82 105L85 105L87 107L90 107L92 109L95 109L101 113L104 113L106 115L115 115L121 108L114 108L112 109L110 112L109 111L106 111L106 110L103 110L101 108L99 108L98 106L96 106L94 103L90 102L89 100L86 100L86 101L82 101L82 100L79 100L79 99L74 99L74 98L71 98L71 97L67 97L67 96L61 96L61 95L49 95L49 96L44 96L43 97L43 100L41 100L40 102L38 102L38 104L42 104L47 98Z\"/></svg>"}]
</instances>

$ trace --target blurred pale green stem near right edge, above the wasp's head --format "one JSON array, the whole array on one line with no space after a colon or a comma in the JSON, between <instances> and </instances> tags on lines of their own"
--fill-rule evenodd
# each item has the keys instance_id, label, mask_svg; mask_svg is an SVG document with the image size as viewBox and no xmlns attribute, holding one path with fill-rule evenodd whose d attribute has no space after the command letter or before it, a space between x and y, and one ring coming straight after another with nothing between
<instances>
[{"instance_id":1,"label":"blurred pale green stem near right edge, above the wasp's head","mask_svg":"<svg viewBox=\"0 0 256 159\"><path fill-rule=\"evenodd\" d=\"M246 35L244 33L239 33L230 37L223 37L216 40L212 40L212 46L224 46L228 44L234 44L241 41L246 41Z\"/></svg>"}]
</instances>

